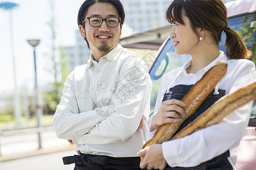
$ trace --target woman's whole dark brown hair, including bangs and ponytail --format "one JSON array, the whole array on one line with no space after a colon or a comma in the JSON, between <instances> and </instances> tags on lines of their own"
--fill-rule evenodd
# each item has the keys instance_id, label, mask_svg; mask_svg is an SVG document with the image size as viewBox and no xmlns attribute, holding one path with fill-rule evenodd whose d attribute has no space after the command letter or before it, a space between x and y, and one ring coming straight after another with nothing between
<instances>
[{"instance_id":1,"label":"woman's whole dark brown hair, including bangs and ponytail","mask_svg":"<svg viewBox=\"0 0 256 170\"><path fill-rule=\"evenodd\" d=\"M211 32L216 44L220 42L221 32L224 31L226 33L226 56L230 59L251 56L251 52L240 35L228 26L226 7L221 0L174 0L168 7L166 18L170 23L175 20L184 24L182 14L189 18L191 28L195 33L198 33L197 28Z\"/></svg>"}]
</instances>

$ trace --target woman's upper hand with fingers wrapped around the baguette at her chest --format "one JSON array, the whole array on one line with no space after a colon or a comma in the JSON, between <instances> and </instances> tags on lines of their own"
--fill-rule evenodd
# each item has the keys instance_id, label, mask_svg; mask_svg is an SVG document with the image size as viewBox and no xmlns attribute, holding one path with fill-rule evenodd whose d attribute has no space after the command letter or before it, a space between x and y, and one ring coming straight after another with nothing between
<instances>
[{"instance_id":1,"label":"woman's upper hand with fingers wrapped around the baguette at her chest","mask_svg":"<svg viewBox=\"0 0 256 170\"><path fill-rule=\"evenodd\" d=\"M182 121L181 115L185 114L183 107L185 107L185 103L181 100L164 101L159 110L152 115L150 131L158 129L163 124Z\"/></svg>"}]
</instances>

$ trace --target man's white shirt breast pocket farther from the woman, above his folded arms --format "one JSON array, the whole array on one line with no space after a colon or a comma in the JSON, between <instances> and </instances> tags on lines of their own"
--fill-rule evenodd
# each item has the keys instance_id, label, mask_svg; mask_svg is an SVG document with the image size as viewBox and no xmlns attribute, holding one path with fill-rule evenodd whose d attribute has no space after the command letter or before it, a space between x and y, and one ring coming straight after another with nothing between
<instances>
[{"instance_id":1,"label":"man's white shirt breast pocket farther from the woman, above his folded arms","mask_svg":"<svg viewBox=\"0 0 256 170\"><path fill-rule=\"evenodd\" d=\"M86 112L90 110L90 94L89 92L76 92L76 99L79 112Z\"/></svg>"}]
</instances>

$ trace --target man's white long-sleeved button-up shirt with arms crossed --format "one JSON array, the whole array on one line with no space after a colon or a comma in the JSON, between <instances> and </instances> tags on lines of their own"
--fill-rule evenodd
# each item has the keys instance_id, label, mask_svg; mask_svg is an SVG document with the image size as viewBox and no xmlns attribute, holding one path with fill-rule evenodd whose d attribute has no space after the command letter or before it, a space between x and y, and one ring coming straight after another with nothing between
<instances>
[{"instance_id":1,"label":"man's white long-sleeved button-up shirt with arms crossed","mask_svg":"<svg viewBox=\"0 0 256 170\"><path fill-rule=\"evenodd\" d=\"M76 151L113 157L137 156L145 142L152 82L138 54L118 44L99 62L90 57L68 75L53 116L57 137Z\"/></svg>"}]
</instances>

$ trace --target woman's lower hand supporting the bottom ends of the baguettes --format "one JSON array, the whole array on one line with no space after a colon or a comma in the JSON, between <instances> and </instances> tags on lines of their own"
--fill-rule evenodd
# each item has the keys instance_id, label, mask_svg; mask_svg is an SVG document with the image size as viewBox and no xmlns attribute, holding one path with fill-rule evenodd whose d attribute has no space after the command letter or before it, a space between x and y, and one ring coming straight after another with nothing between
<instances>
[{"instance_id":1,"label":"woman's lower hand supporting the bottom ends of the baguettes","mask_svg":"<svg viewBox=\"0 0 256 170\"><path fill-rule=\"evenodd\" d=\"M145 167L147 167L147 169L164 169L167 165L166 160L163 157L161 144L147 146L139 151L137 155L145 155L143 161L139 165L142 169Z\"/></svg>"}]
</instances>

